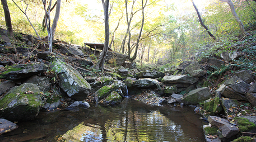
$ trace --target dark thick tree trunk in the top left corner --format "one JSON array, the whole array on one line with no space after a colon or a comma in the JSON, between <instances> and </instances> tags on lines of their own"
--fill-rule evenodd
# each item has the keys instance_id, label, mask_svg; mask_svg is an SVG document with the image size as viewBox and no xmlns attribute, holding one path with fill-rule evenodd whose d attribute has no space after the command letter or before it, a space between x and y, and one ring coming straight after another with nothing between
<instances>
[{"instance_id":1,"label":"dark thick tree trunk in the top left corner","mask_svg":"<svg viewBox=\"0 0 256 142\"><path fill-rule=\"evenodd\" d=\"M4 11L4 18L6 20L6 29L7 29L7 34L9 37L13 37L13 31L12 31L12 21L11 21L11 15L10 11L8 8L8 4L6 0L1 0L2 5L3 5L3 11Z\"/></svg>"}]
</instances>

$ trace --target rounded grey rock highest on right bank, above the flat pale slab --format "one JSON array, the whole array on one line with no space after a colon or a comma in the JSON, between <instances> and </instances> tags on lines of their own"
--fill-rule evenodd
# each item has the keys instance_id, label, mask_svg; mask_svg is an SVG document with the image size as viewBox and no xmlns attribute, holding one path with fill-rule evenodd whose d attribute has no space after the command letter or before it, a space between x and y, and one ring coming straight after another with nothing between
<instances>
[{"instance_id":1,"label":"rounded grey rock highest on right bank, above the flat pale slab","mask_svg":"<svg viewBox=\"0 0 256 142\"><path fill-rule=\"evenodd\" d=\"M193 77L201 77L206 74L206 70L203 69L202 65L198 62L193 62L188 67L185 68L185 71L188 72Z\"/></svg>"}]
</instances>

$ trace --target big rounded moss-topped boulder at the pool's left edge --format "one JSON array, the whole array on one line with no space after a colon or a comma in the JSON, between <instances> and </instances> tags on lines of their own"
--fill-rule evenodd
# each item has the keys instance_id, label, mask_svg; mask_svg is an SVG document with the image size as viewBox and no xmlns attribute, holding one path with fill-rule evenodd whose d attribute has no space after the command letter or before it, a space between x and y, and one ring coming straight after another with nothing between
<instances>
[{"instance_id":1,"label":"big rounded moss-topped boulder at the pool's left edge","mask_svg":"<svg viewBox=\"0 0 256 142\"><path fill-rule=\"evenodd\" d=\"M0 100L0 117L10 121L34 119L43 105L41 93L35 84L13 87Z\"/></svg>"}]
</instances>

